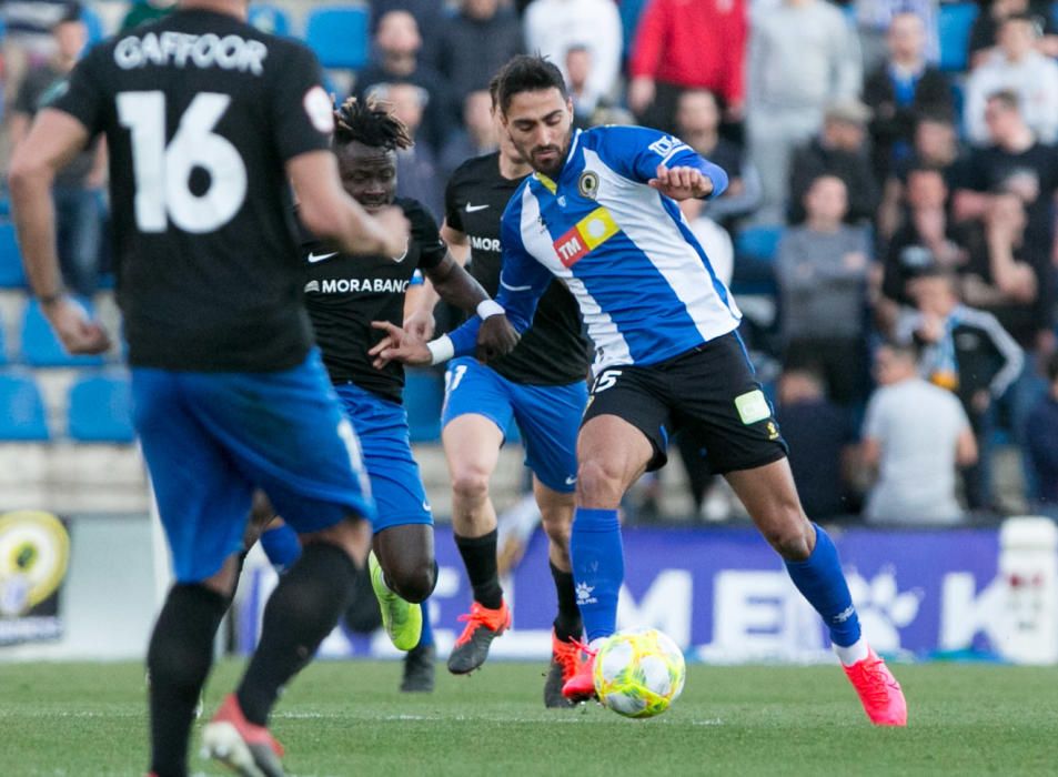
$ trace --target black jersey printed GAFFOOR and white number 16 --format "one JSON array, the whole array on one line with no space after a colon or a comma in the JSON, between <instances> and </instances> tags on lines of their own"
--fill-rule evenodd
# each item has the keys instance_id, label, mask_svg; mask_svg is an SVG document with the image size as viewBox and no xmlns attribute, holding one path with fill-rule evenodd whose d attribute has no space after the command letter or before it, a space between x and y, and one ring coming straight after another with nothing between
<instances>
[{"instance_id":1,"label":"black jersey printed GAFFOOR and white number 16","mask_svg":"<svg viewBox=\"0 0 1058 777\"><path fill-rule=\"evenodd\" d=\"M312 335L284 163L329 148L315 56L230 16L178 10L92 49L52 107L107 137L130 362L301 363Z\"/></svg>"}]
</instances>

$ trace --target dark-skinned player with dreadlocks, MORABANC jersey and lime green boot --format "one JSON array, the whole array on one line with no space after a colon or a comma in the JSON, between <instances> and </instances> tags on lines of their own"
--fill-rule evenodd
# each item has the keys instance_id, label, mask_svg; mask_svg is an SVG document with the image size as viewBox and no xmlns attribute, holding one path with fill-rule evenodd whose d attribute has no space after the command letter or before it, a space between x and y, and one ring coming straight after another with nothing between
<instances>
[{"instance_id":1,"label":"dark-skinned player with dreadlocks, MORABANC jersey and lime green boot","mask_svg":"<svg viewBox=\"0 0 1058 777\"><path fill-rule=\"evenodd\" d=\"M421 603L436 584L433 518L409 442L404 370L395 362L382 370L373 366L367 352L384 332L372 322L403 321L404 295L416 270L443 300L471 314L488 316L495 303L449 253L426 209L396 196L396 152L412 144L404 124L384 103L354 99L334 112L334 124L331 148L345 191L369 213L396 205L411 223L402 256L353 256L308 232L301 250L305 306L323 363L356 431L377 507L369 565L383 625L397 648L410 650L402 688L430 690L434 648ZM486 324L503 321L491 315ZM505 323L502 329L508 330ZM513 346L513 329L506 336Z\"/></svg>"}]
</instances>

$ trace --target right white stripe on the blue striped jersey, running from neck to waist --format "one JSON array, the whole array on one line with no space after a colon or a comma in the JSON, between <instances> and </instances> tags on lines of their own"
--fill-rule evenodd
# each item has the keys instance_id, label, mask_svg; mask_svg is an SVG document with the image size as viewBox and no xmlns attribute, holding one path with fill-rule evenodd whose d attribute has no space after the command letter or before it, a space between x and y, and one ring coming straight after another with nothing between
<instances>
[{"instance_id":1,"label":"right white stripe on the blue striped jersey, running from neck to waist","mask_svg":"<svg viewBox=\"0 0 1058 777\"><path fill-rule=\"evenodd\" d=\"M742 313L734 297L728 292L725 304L717 294L712 274L665 210L657 190L619 175L592 149L583 153L585 169L599 176L598 204L606 206L621 231L665 279L702 339L709 341L737 329Z\"/></svg>"}]
</instances>

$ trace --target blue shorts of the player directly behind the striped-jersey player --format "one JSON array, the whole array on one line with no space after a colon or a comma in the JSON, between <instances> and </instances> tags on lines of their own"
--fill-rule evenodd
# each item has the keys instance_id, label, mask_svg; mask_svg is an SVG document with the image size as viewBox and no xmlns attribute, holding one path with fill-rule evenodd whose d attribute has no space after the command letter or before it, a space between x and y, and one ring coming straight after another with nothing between
<instances>
[{"instance_id":1,"label":"blue shorts of the player directly behind the striped-jersey player","mask_svg":"<svg viewBox=\"0 0 1058 777\"><path fill-rule=\"evenodd\" d=\"M552 491L576 490L577 431L587 404L587 384L532 386L503 377L476 359L449 363L441 424L468 413L483 415L506 434L511 420L518 424L525 445L525 465Z\"/></svg>"}]
</instances>

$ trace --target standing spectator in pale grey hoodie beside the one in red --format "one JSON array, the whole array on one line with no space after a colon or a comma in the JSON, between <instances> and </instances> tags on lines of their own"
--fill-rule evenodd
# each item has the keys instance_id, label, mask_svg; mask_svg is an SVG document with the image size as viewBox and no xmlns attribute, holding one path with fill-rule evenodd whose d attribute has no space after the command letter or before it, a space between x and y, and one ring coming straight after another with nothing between
<instances>
[{"instance_id":1,"label":"standing spectator in pale grey hoodie beside the one in red","mask_svg":"<svg viewBox=\"0 0 1058 777\"><path fill-rule=\"evenodd\" d=\"M842 11L824 0L762 4L749 29L746 129L764 192L756 219L779 223L794 149L819 131L827 105L859 94L859 46Z\"/></svg>"}]
</instances>

